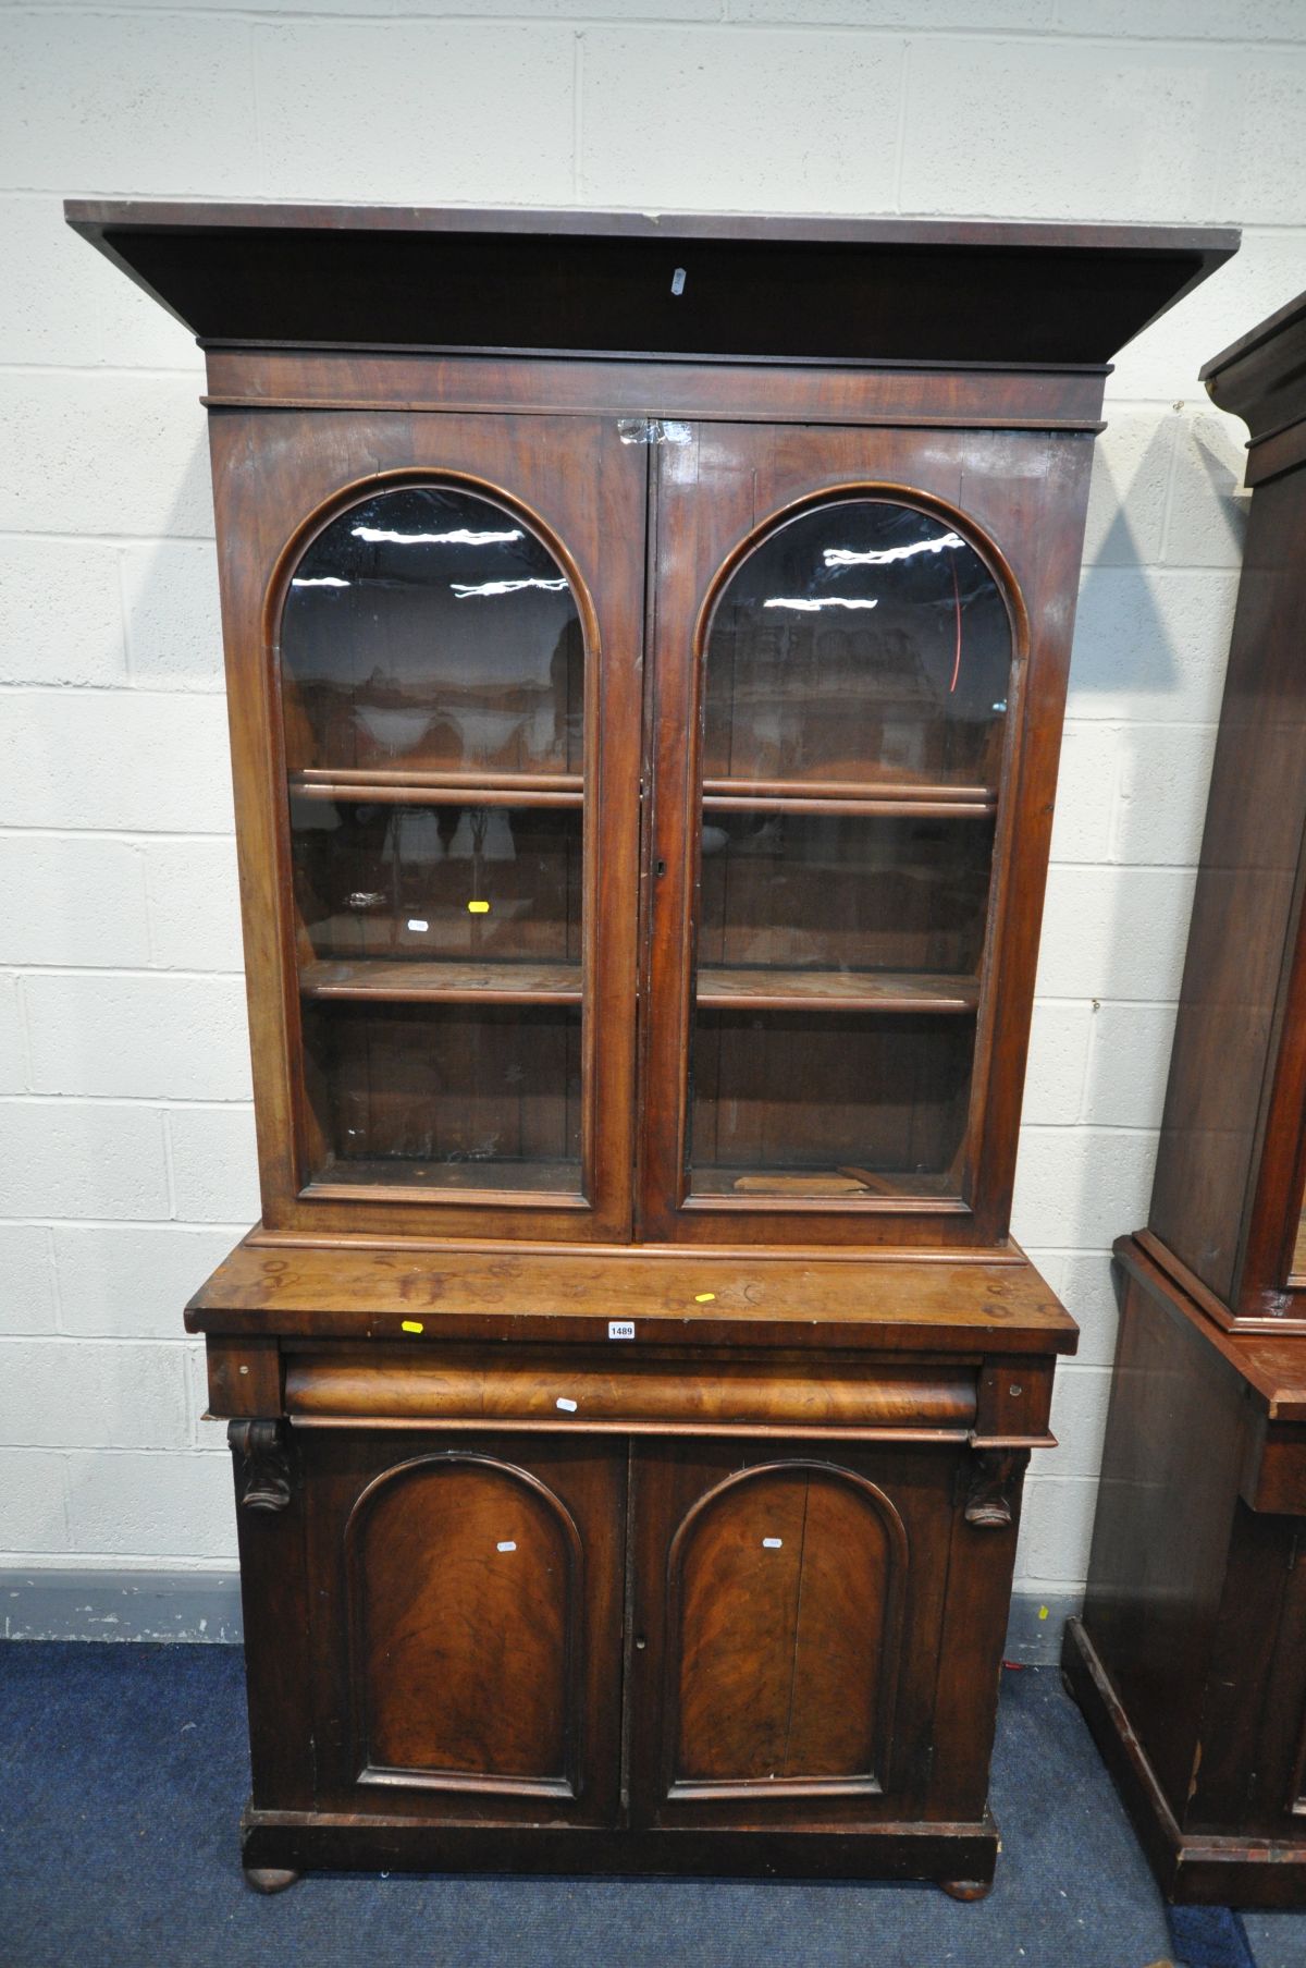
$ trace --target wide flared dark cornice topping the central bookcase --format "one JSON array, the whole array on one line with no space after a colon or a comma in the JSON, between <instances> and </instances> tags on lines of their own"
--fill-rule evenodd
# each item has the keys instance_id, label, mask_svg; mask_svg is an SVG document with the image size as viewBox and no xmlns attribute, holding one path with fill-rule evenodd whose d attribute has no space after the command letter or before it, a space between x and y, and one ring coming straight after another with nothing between
<instances>
[{"instance_id":1,"label":"wide flared dark cornice topping the central bookcase","mask_svg":"<svg viewBox=\"0 0 1306 1968\"><path fill-rule=\"evenodd\" d=\"M87 201L207 342L1099 366L1227 226Z\"/></svg>"}]
</instances>

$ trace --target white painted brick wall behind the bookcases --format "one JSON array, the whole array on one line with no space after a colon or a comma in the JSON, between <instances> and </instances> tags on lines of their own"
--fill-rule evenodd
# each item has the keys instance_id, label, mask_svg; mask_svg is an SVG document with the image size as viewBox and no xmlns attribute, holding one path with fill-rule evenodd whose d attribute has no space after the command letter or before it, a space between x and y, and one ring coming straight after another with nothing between
<instances>
[{"instance_id":1,"label":"white painted brick wall behind the bookcases","mask_svg":"<svg viewBox=\"0 0 1306 1968\"><path fill-rule=\"evenodd\" d=\"M1306 287L1300 0L0 0L0 1563L230 1565L181 1305L258 1208L187 333L77 195L1235 220L1094 466L1015 1230L1084 1576L1245 523L1198 368Z\"/></svg>"}]
</instances>

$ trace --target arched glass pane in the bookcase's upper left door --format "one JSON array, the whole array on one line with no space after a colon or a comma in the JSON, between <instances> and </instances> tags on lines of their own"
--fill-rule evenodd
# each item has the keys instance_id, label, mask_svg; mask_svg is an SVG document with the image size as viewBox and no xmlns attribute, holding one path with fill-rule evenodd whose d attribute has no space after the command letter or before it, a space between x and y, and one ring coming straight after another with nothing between
<instances>
[{"instance_id":1,"label":"arched glass pane in the bookcase's upper left door","mask_svg":"<svg viewBox=\"0 0 1306 1968\"><path fill-rule=\"evenodd\" d=\"M517 514L421 484L281 618L309 1179L580 1191L584 636Z\"/></svg>"}]
</instances>

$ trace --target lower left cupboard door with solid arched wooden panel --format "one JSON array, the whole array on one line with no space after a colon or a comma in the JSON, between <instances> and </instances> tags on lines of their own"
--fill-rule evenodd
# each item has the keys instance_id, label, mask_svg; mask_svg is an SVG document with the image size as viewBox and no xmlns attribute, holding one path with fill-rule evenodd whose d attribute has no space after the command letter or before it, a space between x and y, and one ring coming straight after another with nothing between
<instances>
[{"instance_id":1,"label":"lower left cupboard door with solid arched wooden panel","mask_svg":"<svg viewBox=\"0 0 1306 1968\"><path fill-rule=\"evenodd\" d=\"M319 1809L614 1820L625 1445L307 1446Z\"/></svg>"}]
</instances>

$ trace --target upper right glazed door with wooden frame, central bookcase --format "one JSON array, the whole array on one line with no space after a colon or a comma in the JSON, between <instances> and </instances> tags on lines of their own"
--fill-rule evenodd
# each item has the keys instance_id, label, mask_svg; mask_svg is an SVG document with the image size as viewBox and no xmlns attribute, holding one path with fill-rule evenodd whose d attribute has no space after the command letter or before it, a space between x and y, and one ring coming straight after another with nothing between
<instances>
[{"instance_id":1,"label":"upper right glazed door with wooden frame, central bookcase","mask_svg":"<svg viewBox=\"0 0 1306 1968\"><path fill-rule=\"evenodd\" d=\"M1029 626L995 537L1064 626L1039 529L1068 480L1035 435L675 435L653 514L645 1234L1001 1236L1046 815L1011 825ZM1027 797L1048 768L1054 750L1025 762Z\"/></svg>"}]
</instances>

